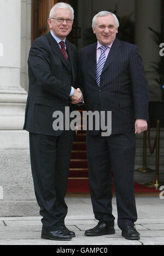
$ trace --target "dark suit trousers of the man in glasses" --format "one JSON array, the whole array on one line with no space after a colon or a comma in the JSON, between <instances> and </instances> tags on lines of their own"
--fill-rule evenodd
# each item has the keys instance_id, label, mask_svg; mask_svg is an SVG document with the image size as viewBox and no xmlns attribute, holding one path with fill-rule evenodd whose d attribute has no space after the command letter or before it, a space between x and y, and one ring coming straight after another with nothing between
<instances>
[{"instance_id":1,"label":"dark suit trousers of the man in glasses","mask_svg":"<svg viewBox=\"0 0 164 256\"><path fill-rule=\"evenodd\" d=\"M34 191L44 230L58 230L65 221L65 195L74 134L74 131L63 131L60 136L49 136L30 132Z\"/></svg>"}]
</instances>

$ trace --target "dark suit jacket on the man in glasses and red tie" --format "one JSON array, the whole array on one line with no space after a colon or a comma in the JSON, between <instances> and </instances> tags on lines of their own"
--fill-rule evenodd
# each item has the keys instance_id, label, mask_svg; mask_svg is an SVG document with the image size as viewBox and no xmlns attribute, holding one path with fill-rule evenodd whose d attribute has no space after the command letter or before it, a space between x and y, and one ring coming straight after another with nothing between
<instances>
[{"instance_id":1,"label":"dark suit jacket on the man in glasses and red tie","mask_svg":"<svg viewBox=\"0 0 164 256\"><path fill-rule=\"evenodd\" d=\"M29 90L24 129L33 133L58 136L52 114L60 110L65 118L65 107L70 104L71 85L76 87L78 50L66 41L69 69L57 42L50 32L38 37L31 46L28 57ZM65 121L63 122L65 124Z\"/></svg>"}]
</instances>

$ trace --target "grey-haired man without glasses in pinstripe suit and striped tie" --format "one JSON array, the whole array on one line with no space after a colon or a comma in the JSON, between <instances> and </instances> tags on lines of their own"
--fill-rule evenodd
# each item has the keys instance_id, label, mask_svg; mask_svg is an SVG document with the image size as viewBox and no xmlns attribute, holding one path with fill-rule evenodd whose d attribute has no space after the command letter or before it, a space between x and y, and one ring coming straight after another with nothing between
<instances>
[{"instance_id":1,"label":"grey-haired man without glasses in pinstripe suit and striped tie","mask_svg":"<svg viewBox=\"0 0 164 256\"><path fill-rule=\"evenodd\" d=\"M115 233L112 214L113 170L118 225L122 236L138 240L134 198L135 133L147 130L148 86L138 48L116 38L119 21L113 13L100 12L93 18L97 43L79 52L80 89L86 110L112 111L112 134L88 130L86 136L90 192L96 227L86 236ZM76 103L77 101L73 101ZM107 120L106 120L107 121Z\"/></svg>"}]
</instances>

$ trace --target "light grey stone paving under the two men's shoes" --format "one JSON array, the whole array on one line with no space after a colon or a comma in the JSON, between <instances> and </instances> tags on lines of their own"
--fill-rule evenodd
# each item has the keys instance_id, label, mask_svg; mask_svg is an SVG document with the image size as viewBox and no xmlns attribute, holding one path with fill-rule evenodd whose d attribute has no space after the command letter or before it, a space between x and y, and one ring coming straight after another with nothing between
<instances>
[{"instance_id":1,"label":"light grey stone paving under the two men's shoes","mask_svg":"<svg viewBox=\"0 0 164 256\"><path fill-rule=\"evenodd\" d=\"M163 192L164 196L164 192ZM75 231L71 241L50 241L40 238L42 228L40 216L0 217L0 245L123 245L164 244L164 199L158 196L136 197L139 241L125 240L115 221L115 235L86 237L84 230L97 225L92 213L90 197L66 197L68 215L66 226ZM113 198L113 214L116 213L116 199Z\"/></svg>"}]
</instances>

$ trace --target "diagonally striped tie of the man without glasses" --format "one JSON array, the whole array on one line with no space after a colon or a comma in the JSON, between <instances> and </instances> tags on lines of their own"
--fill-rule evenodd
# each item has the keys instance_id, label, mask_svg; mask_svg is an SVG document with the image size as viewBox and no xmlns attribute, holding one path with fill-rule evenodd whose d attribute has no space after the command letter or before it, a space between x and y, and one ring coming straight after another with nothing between
<instances>
[{"instance_id":1,"label":"diagonally striped tie of the man without glasses","mask_svg":"<svg viewBox=\"0 0 164 256\"><path fill-rule=\"evenodd\" d=\"M108 48L108 46L99 47L99 49L101 49L101 55L98 59L97 68L96 68L96 82L97 82L98 86L100 84L100 77L101 77L101 73L103 70L103 66L106 62L106 54L104 52L106 51L107 48Z\"/></svg>"}]
</instances>

